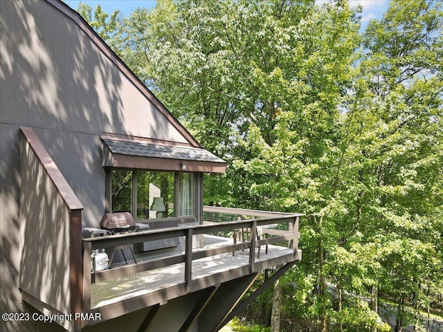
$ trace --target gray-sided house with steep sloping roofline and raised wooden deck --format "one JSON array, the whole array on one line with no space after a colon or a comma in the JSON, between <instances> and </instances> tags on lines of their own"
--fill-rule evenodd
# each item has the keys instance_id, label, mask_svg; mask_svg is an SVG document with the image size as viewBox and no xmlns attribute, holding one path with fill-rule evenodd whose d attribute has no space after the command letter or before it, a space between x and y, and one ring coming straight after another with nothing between
<instances>
[{"instance_id":1,"label":"gray-sided house with steep sloping roofline and raised wooden deck","mask_svg":"<svg viewBox=\"0 0 443 332\"><path fill-rule=\"evenodd\" d=\"M226 163L77 12L0 27L0 331L218 331L301 259L300 214L203 205Z\"/></svg>"}]
</instances>

